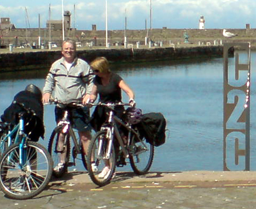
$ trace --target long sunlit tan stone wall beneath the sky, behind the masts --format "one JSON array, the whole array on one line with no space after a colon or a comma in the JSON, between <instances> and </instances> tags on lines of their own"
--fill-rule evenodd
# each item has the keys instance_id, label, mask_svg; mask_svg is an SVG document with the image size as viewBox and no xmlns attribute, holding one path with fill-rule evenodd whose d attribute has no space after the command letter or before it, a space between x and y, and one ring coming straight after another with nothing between
<instances>
[{"instance_id":1,"label":"long sunlit tan stone wall beneath the sky, behind the masts","mask_svg":"<svg viewBox=\"0 0 256 209\"><path fill-rule=\"evenodd\" d=\"M213 45L214 40L216 42L250 42L256 44L256 29L228 29L228 31L235 33L237 36L228 40L222 35L223 29L140 29L132 30L109 30L108 42L110 45L120 43L124 45L124 36L127 38L127 43L136 44L140 42L141 45L145 43L145 37L147 41L163 42L164 45L171 43L183 43L184 35L188 35L189 43L198 44L198 42L211 42ZM58 46L62 42L62 31L52 30L51 39L49 38L49 30L46 28L31 28L31 29L12 29L12 30L0 30L0 43L8 46L9 44L15 44L17 46L24 43L38 44L38 36L41 37L41 43L44 43L47 47L47 43L56 43ZM17 40L16 40L17 38ZM65 31L65 38L70 38L76 42L81 43L82 47L93 43L96 46L106 45L106 31L104 30L76 30L71 29Z\"/></svg>"}]
</instances>

